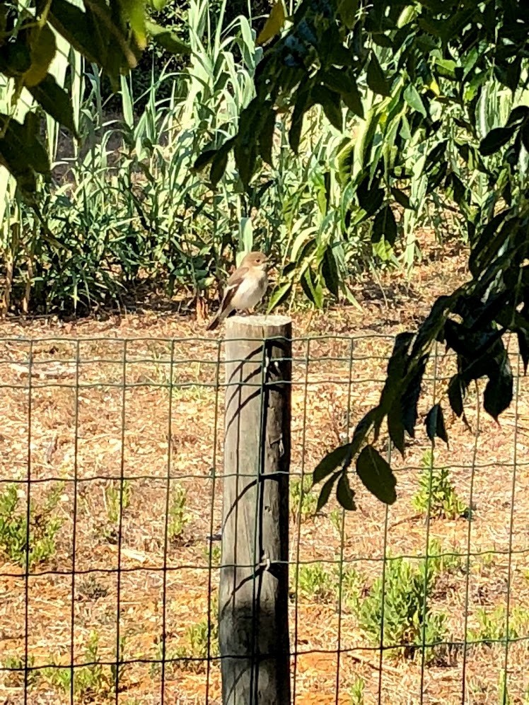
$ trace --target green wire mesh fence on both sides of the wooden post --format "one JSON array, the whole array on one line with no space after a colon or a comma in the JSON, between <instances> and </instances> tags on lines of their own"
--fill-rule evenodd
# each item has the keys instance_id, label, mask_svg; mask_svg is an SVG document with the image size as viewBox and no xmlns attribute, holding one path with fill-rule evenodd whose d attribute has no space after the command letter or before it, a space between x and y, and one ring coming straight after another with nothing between
<instances>
[{"instance_id":1,"label":"green wire mesh fence on both sides of the wooden post","mask_svg":"<svg viewBox=\"0 0 529 705\"><path fill-rule=\"evenodd\" d=\"M0 699L221 702L222 341L0 341ZM397 503L315 515L310 474L378 400L393 338L293 339L292 701L529 702L527 382L450 448L381 438ZM446 397L431 359L419 410ZM246 705L246 704L245 704Z\"/></svg>"}]
</instances>

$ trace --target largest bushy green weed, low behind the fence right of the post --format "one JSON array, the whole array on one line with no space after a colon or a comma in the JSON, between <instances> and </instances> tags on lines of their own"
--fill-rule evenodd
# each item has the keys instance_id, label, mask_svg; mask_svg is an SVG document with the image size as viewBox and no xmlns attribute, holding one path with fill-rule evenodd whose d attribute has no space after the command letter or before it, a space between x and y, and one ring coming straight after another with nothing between
<instances>
[{"instance_id":1,"label":"largest bushy green weed, low behind the fence right of the post","mask_svg":"<svg viewBox=\"0 0 529 705\"><path fill-rule=\"evenodd\" d=\"M387 653L393 658L399 653L412 658L423 643L423 634L424 643L430 645L443 641L446 634L446 616L433 614L429 607L436 577L434 566L429 561L426 571L424 563L417 567L403 558L388 560L385 583L380 576L368 596L359 601L359 625L371 641L380 642L383 624L383 645L404 647L390 648ZM434 651L431 646L426 649L426 663L434 660Z\"/></svg>"}]
</instances>

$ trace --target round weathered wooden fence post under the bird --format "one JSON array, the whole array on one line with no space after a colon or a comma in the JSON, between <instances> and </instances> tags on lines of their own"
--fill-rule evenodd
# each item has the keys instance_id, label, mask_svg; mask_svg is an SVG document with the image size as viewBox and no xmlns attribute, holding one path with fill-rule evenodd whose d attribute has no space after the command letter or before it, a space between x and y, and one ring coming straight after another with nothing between
<instances>
[{"instance_id":1,"label":"round weathered wooden fence post under the bird","mask_svg":"<svg viewBox=\"0 0 529 705\"><path fill-rule=\"evenodd\" d=\"M226 321L223 705L289 705L291 319Z\"/></svg>"}]
</instances>

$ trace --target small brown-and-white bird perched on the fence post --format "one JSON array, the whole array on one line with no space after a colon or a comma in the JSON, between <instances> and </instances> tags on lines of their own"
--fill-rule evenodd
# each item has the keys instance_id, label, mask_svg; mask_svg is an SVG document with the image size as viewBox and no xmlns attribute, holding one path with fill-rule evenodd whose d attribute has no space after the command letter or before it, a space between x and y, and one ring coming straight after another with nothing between
<instances>
[{"instance_id":1,"label":"small brown-and-white bird perched on the fence post","mask_svg":"<svg viewBox=\"0 0 529 705\"><path fill-rule=\"evenodd\" d=\"M221 308L209 322L207 330L215 330L234 311L247 311L261 301L268 286L268 264L268 257L262 252L248 252L226 282Z\"/></svg>"}]
</instances>

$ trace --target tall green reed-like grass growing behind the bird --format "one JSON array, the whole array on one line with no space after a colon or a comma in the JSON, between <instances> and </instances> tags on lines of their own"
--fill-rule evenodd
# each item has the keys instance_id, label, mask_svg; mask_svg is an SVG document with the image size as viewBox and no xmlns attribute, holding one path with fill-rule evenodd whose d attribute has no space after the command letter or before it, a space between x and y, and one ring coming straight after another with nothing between
<instances>
[{"instance_id":1,"label":"tall green reed-like grass growing behind the bird","mask_svg":"<svg viewBox=\"0 0 529 705\"><path fill-rule=\"evenodd\" d=\"M273 168L260 164L245 192L230 158L212 190L207 174L195 173L192 165L204 146L235 133L262 55L255 45L255 18L228 21L226 6L226 0L191 0L190 61L179 71L168 63L146 80L122 78L118 112L110 110L116 102L109 102L96 67L59 46L52 68L59 83L71 86L80 139L60 134L47 118L43 127L54 178L40 182L36 208L19 199L0 168L4 313L85 313L152 291L202 298L243 252L257 247L281 265L272 303L292 302L302 292L322 305L325 289L354 302L350 284L362 269L411 267L417 227L433 224L440 235L457 228L457 218L448 223L444 217L446 202L426 194L425 161L432 145L418 139L409 150L414 208L398 219L405 238L400 257L384 243L373 248L371 225L359 214L350 180L341 176L344 148L365 124L345 111L339 130L314 107L297 156L288 147L288 117L280 115ZM136 95L134 86L146 88ZM366 92L366 113L372 99ZM10 100L8 84L0 86L0 108ZM492 93L482 101L483 132L502 124L510 102ZM30 96L22 95L18 117L28 108L35 109ZM465 178L478 198L487 198L479 177Z\"/></svg>"}]
</instances>

